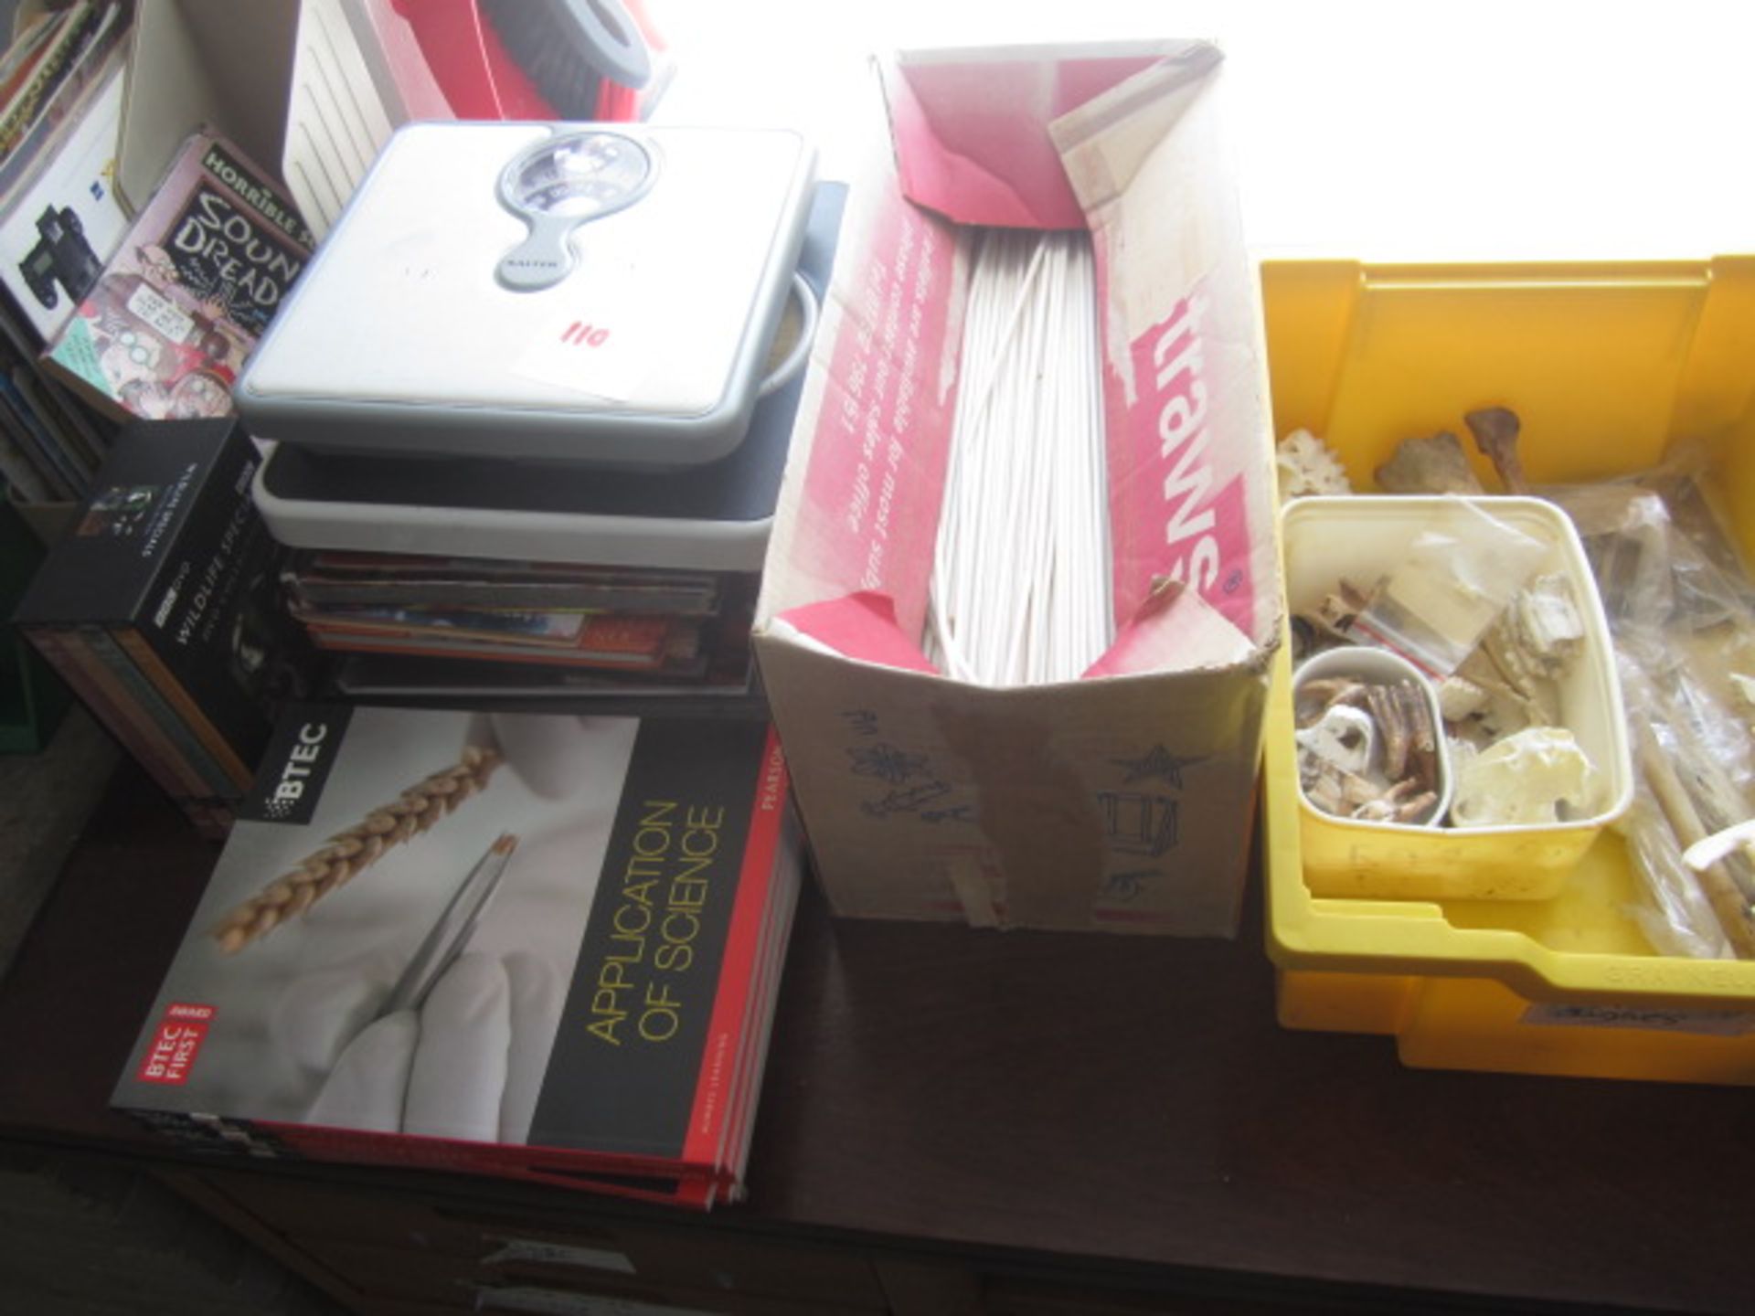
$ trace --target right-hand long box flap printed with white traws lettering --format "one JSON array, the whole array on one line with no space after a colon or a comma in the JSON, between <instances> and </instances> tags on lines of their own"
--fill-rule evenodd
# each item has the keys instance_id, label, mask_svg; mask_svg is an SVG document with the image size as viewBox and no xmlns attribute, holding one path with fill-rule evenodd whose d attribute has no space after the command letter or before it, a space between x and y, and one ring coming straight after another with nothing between
<instances>
[{"instance_id":1,"label":"right-hand long box flap printed with white traws lettering","mask_svg":"<svg viewBox=\"0 0 1755 1316\"><path fill-rule=\"evenodd\" d=\"M1053 137L1097 253L1116 618L1171 579L1271 647L1265 344L1220 72L1214 47L1188 46L1069 111Z\"/></svg>"}]
</instances>

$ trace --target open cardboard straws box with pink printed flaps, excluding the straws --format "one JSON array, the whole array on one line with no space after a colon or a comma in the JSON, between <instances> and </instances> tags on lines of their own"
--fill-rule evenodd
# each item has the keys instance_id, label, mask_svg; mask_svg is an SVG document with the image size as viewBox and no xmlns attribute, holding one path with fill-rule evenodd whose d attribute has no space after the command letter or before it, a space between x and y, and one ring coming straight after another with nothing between
<instances>
[{"instance_id":1,"label":"open cardboard straws box with pink printed flaps, excluding the straws","mask_svg":"<svg viewBox=\"0 0 1755 1316\"><path fill-rule=\"evenodd\" d=\"M1204 42L881 67L755 628L839 914L1236 932L1283 591L1220 74ZM962 684L918 642L983 225L1097 253L1118 637L1076 683Z\"/></svg>"}]
</instances>

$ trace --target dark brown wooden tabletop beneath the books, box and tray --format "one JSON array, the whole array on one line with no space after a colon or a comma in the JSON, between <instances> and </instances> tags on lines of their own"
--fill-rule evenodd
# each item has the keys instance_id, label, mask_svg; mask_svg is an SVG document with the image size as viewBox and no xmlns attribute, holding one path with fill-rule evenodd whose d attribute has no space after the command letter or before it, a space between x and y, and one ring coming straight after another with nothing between
<instances>
[{"instance_id":1,"label":"dark brown wooden tabletop beneath the books, box and tray","mask_svg":"<svg viewBox=\"0 0 1755 1316\"><path fill-rule=\"evenodd\" d=\"M0 1135L174 1158L105 1102L214 855L118 770L0 988ZM1748 1091L1420 1072L1285 1032L1258 890L1244 918L1236 942L993 933L837 923L807 893L749 1202L702 1227L1264 1309L1755 1311Z\"/></svg>"}]
</instances>

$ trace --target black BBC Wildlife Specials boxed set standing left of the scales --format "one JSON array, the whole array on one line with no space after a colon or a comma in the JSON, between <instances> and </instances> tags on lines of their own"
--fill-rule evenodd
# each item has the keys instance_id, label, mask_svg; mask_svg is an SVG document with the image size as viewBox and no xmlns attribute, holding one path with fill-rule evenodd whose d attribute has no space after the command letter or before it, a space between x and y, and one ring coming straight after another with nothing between
<instances>
[{"instance_id":1,"label":"black BBC Wildlife Specials boxed set standing left of the scales","mask_svg":"<svg viewBox=\"0 0 1755 1316\"><path fill-rule=\"evenodd\" d=\"M235 421L140 421L12 621L209 835L254 779L270 709L302 688L279 546Z\"/></svg>"}]
</instances>

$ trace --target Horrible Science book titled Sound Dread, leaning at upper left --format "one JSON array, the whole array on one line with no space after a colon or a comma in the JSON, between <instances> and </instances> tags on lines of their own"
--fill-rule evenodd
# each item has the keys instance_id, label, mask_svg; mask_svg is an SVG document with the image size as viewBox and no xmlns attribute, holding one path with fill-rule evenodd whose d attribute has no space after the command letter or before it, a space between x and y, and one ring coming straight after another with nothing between
<instances>
[{"instance_id":1,"label":"Horrible Science book titled Sound Dread, leaning at upper left","mask_svg":"<svg viewBox=\"0 0 1755 1316\"><path fill-rule=\"evenodd\" d=\"M44 368L121 421L228 416L232 384L311 249L279 184L225 137L197 132Z\"/></svg>"}]
</instances>

